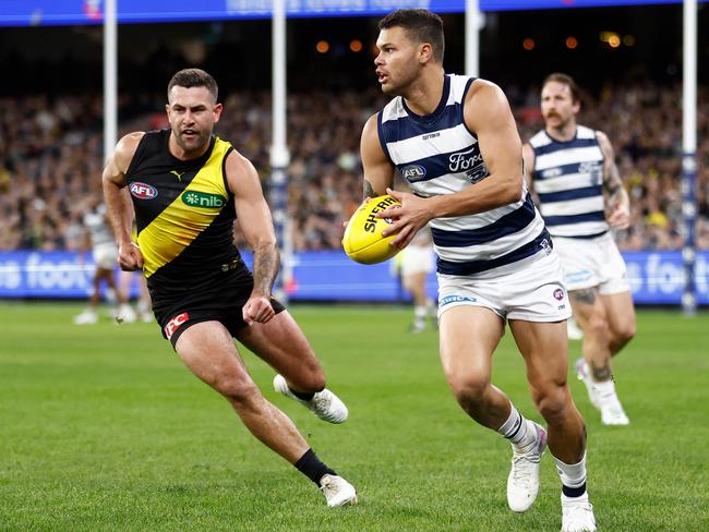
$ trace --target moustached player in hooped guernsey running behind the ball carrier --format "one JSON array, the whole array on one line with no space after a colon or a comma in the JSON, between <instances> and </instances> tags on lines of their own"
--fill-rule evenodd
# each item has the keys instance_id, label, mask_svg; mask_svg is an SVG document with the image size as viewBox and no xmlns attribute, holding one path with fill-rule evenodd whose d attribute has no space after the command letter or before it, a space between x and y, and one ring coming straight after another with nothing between
<instances>
[{"instance_id":1,"label":"moustached player in hooped guernsey running behind the ball carrier","mask_svg":"<svg viewBox=\"0 0 709 532\"><path fill-rule=\"evenodd\" d=\"M541 94L545 128L524 146L525 168L584 330L584 358L576 362L576 373L601 410L602 423L627 425L611 356L635 336L635 310L625 262L609 229L628 227L629 201L611 142L603 132L576 123L579 109L574 80L550 74Z\"/></svg>"}]
</instances>

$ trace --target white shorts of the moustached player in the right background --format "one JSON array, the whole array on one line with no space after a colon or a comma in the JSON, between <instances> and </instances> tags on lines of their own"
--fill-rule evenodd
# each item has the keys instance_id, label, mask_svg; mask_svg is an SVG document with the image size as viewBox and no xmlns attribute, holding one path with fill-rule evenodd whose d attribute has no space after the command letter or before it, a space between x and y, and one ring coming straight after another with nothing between
<instances>
[{"instance_id":1,"label":"white shorts of the moustached player in the right background","mask_svg":"<svg viewBox=\"0 0 709 532\"><path fill-rule=\"evenodd\" d=\"M553 237L568 291L598 287L600 293L630 290L625 261L610 232L594 239Z\"/></svg>"}]
</instances>

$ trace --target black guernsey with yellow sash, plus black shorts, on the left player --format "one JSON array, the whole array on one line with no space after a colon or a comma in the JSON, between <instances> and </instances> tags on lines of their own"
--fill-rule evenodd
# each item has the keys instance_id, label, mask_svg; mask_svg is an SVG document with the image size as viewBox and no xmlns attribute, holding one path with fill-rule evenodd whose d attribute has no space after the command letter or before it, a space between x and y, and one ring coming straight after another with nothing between
<instances>
[{"instance_id":1,"label":"black guernsey with yellow sash, plus black shorts, on the left player","mask_svg":"<svg viewBox=\"0 0 709 532\"><path fill-rule=\"evenodd\" d=\"M235 290L245 301L253 286L233 243L236 208L225 169L231 144L212 136L203 156L180 160L169 137L169 129L145 133L125 172L143 273L163 327L185 309L233 309Z\"/></svg>"}]
</instances>

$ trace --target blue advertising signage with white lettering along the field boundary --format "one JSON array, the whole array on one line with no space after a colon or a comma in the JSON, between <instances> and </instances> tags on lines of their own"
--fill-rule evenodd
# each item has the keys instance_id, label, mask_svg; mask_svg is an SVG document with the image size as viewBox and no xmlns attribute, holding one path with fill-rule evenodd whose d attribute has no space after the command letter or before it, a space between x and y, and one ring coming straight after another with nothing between
<instances>
[{"instance_id":1,"label":"blue advertising signage with white lettering along the field boundary","mask_svg":"<svg viewBox=\"0 0 709 532\"><path fill-rule=\"evenodd\" d=\"M680 251L624 252L633 299L637 304L678 305L684 291ZM244 254L251 264L251 255ZM91 253L0 251L0 299L85 299L93 290ZM343 251L297 253L286 291L292 301L381 301L408 298L389 263L363 266ZM117 270L118 274L118 270ZM697 253L695 282L700 305L709 304L709 251ZM436 279L428 289L436 298ZM137 295L133 286L131 295Z\"/></svg>"}]
</instances>

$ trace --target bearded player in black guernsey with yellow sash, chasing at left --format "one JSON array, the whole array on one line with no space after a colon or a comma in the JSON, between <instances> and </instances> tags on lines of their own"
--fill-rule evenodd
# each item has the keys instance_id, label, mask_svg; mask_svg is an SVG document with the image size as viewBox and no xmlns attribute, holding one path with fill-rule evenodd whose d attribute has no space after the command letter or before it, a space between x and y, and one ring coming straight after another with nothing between
<instances>
[{"instance_id":1,"label":"bearded player in black guernsey with yellow sash, chasing at left","mask_svg":"<svg viewBox=\"0 0 709 532\"><path fill-rule=\"evenodd\" d=\"M116 146L103 184L120 266L143 269L164 336L249 431L322 488L328 506L354 504L354 487L262 396L233 341L278 372L277 391L322 420L347 419L301 329L271 295L279 261L271 211L251 162L213 135L223 111L217 97L209 74L182 70L168 85L170 129L130 133ZM236 216L253 251L253 275L232 241Z\"/></svg>"}]
</instances>

